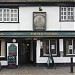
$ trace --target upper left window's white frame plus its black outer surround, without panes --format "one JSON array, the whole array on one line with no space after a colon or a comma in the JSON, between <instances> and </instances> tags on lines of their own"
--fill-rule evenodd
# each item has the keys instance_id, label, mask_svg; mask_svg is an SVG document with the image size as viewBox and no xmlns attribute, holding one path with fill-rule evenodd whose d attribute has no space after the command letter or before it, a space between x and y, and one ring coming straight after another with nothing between
<instances>
[{"instance_id":1,"label":"upper left window's white frame plus its black outer surround, without panes","mask_svg":"<svg viewBox=\"0 0 75 75\"><path fill-rule=\"evenodd\" d=\"M2 20L0 21L0 23L19 23L19 8L18 7L14 7L14 8L13 7L11 7L11 8L4 7L4 8L0 8L0 9L2 9ZM4 9L6 9L6 10L9 9L9 21L4 21ZM17 14L17 16L16 17L14 16L14 18L13 18L13 19L17 18L16 21L11 21L11 17L10 17L11 16L11 10L17 10L17 13L15 13L15 14ZM6 14L6 16L7 16L7 14Z\"/></svg>"}]
</instances>

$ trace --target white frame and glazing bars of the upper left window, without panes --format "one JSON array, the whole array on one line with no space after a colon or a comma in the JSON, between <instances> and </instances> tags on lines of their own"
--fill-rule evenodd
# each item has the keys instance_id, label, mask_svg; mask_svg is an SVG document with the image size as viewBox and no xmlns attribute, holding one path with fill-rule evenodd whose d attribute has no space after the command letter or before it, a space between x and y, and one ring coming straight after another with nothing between
<instances>
[{"instance_id":1,"label":"white frame and glazing bars of the upper left window, without panes","mask_svg":"<svg viewBox=\"0 0 75 75\"><path fill-rule=\"evenodd\" d=\"M9 20L7 21L7 11L6 11L6 21L4 21L4 9L8 9L9 10ZM18 22L18 8L0 8L0 10L2 10L2 20L0 22ZM17 16L15 17L11 17L11 10L13 10L13 15L16 14ZM14 10L16 10L17 12L15 13ZM0 17L1 18L1 17ZM15 20L11 20L11 18L15 19L16 18L16 21Z\"/></svg>"}]
</instances>

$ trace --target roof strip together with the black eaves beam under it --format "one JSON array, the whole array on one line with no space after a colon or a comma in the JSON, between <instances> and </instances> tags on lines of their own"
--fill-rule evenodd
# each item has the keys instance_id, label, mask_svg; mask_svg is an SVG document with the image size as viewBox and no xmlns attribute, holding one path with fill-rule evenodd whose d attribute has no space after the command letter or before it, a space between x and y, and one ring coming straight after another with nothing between
<instances>
[{"instance_id":1,"label":"roof strip together with the black eaves beam under it","mask_svg":"<svg viewBox=\"0 0 75 75\"><path fill-rule=\"evenodd\" d=\"M8 6L75 6L75 0L0 0L0 7Z\"/></svg>"}]
</instances>

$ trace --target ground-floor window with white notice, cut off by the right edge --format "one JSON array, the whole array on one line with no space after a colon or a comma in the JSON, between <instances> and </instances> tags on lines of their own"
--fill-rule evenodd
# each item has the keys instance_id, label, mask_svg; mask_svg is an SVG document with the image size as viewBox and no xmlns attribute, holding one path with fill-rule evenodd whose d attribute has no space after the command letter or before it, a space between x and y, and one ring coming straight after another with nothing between
<instances>
[{"instance_id":1,"label":"ground-floor window with white notice, cut off by the right edge","mask_svg":"<svg viewBox=\"0 0 75 75\"><path fill-rule=\"evenodd\" d=\"M75 55L75 39L67 39L66 41L66 55Z\"/></svg>"}]
</instances>

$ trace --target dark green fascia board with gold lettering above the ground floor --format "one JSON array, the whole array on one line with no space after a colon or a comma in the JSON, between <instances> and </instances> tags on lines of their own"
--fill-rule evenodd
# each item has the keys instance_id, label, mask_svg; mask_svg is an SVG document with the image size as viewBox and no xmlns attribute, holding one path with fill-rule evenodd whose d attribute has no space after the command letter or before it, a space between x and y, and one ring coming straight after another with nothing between
<instances>
[{"instance_id":1,"label":"dark green fascia board with gold lettering above the ground floor","mask_svg":"<svg viewBox=\"0 0 75 75\"><path fill-rule=\"evenodd\" d=\"M0 31L0 37L75 38L75 31Z\"/></svg>"}]
</instances>

